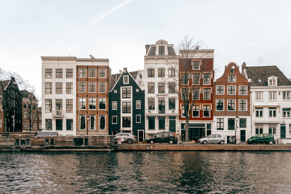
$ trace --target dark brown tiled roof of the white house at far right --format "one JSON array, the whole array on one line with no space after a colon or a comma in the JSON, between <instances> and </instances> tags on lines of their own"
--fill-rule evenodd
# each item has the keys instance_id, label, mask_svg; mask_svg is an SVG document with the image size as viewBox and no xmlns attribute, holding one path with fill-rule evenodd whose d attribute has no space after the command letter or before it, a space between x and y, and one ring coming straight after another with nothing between
<instances>
[{"instance_id":1,"label":"dark brown tiled roof of the white house at far right","mask_svg":"<svg viewBox=\"0 0 291 194\"><path fill-rule=\"evenodd\" d=\"M277 66L246 67L246 73L251 79L251 86L268 86L268 77L270 76L278 77L278 86L291 86L291 82ZM259 79L261 82L258 81Z\"/></svg>"}]
</instances>

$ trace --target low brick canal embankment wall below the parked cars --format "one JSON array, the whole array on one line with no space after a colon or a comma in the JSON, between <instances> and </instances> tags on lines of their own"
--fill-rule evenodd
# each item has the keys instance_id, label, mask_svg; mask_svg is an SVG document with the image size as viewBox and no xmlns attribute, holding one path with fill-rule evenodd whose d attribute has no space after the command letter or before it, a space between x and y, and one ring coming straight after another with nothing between
<instances>
[{"instance_id":1,"label":"low brick canal embankment wall below the parked cars","mask_svg":"<svg viewBox=\"0 0 291 194\"><path fill-rule=\"evenodd\" d=\"M115 144L115 151L291 151L290 144Z\"/></svg>"}]
</instances>

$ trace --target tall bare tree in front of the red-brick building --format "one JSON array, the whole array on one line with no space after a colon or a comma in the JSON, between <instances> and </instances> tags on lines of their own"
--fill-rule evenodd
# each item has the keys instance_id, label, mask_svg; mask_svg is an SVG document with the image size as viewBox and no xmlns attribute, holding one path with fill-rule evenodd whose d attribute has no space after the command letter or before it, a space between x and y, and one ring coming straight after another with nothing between
<instances>
[{"instance_id":1,"label":"tall bare tree in front of the red-brick building","mask_svg":"<svg viewBox=\"0 0 291 194\"><path fill-rule=\"evenodd\" d=\"M206 50L203 41L194 42L192 37L186 35L180 40L175 48L179 55L179 60L168 61L168 65L175 70L174 79L177 85L171 84L170 80L165 81L169 90L174 89L179 102L182 105L181 114L185 117L185 140L188 141L189 117L192 107L201 101L199 95L202 90L203 82L211 83L214 76L213 71L213 50ZM208 60L212 57L211 60ZM209 74L205 74L205 71ZM204 74L203 74L204 72ZM173 78L171 78L173 79ZM173 88L175 87L175 88ZM210 97L210 93L207 95ZM208 98L208 96L206 96ZM210 98L209 98L210 99Z\"/></svg>"}]
</instances>

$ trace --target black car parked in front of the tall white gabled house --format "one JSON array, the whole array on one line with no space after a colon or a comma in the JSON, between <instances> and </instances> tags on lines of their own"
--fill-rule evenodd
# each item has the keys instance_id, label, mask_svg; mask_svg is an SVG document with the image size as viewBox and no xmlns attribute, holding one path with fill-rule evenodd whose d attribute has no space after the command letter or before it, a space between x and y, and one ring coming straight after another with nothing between
<instances>
[{"instance_id":1,"label":"black car parked in front of the tall white gabled house","mask_svg":"<svg viewBox=\"0 0 291 194\"><path fill-rule=\"evenodd\" d=\"M175 140L175 132L172 131L163 131L156 133L152 137L148 137L146 139L147 143L154 144L154 143L169 143L173 144L176 142Z\"/></svg>"}]
</instances>

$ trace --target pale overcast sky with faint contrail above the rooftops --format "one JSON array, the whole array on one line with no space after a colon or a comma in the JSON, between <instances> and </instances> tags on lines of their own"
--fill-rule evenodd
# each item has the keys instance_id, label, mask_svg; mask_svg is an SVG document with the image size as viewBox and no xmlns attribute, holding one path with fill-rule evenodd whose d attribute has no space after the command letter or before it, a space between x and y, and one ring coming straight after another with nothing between
<instances>
[{"instance_id":1,"label":"pale overcast sky with faint contrail above the rooftops","mask_svg":"<svg viewBox=\"0 0 291 194\"><path fill-rule=\"evenodd\" d=\"M290 0L0 0L0 67L41 95L40 56L109 59L112 74L143 70L145 45L185 35L230 62L276 65L291 78Z\"/></svg>"}]
</instances>

